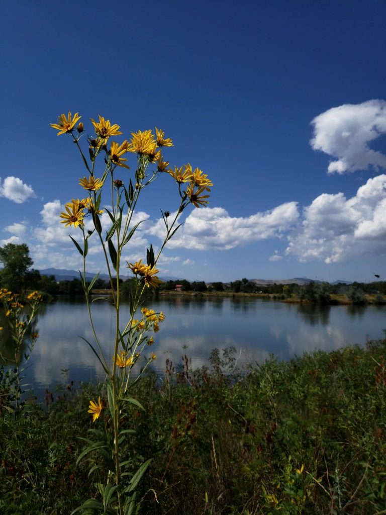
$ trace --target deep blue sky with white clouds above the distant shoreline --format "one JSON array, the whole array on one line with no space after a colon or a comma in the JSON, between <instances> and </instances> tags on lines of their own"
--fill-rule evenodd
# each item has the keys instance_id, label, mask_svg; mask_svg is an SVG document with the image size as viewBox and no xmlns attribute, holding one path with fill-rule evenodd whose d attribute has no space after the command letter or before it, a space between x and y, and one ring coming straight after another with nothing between
<instances>
[{"instance_id":1,"label":"deep blue sky with white clouds above the distant shoreline","mask_svg":"<svg viewBox=\"0 0 386 515\"><path fill-rule=\"evenodd\" d=\"M27 243L36 268L81 266L59 213L83 196L85 170L71 138L49 126L70 110L90 134L90 117L117 123L119 141L161 127L170 164L190 162L214 182L209 208L185 211L161 276L386 277L384 2L0 9L0 245ZM166 174L144 191L129 260L160 245L160 209L177 202ZM104 271L96 245L88 268Z\"/></svg>"}]
</instances>

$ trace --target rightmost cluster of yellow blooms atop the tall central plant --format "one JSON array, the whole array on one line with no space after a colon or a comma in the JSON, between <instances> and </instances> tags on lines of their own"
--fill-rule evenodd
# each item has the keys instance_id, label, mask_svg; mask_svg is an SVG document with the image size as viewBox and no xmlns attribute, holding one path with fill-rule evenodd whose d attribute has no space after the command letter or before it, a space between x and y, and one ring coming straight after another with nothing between
<instances>
[{"instance_id":1,"label":"rightmost cluster of yellow blooms atop the tall central plant","mask_svg":"<svg viewBox=\"0 0 386 515\"><path fill-rule=\"evenodd\" d=\"M188 163L180 167L174 166L174 170L169 168L166 171L178 185L185 182L189 183L185 194L196 208L209 203L206 200L209 198L209 195L202 195L202 193L205 191L210 192L209 186L213 186L213 182L208 179L207 174L204 174L200 168L195 168L195 171L192 171L192 167Z\"/></svg>"}]
</instances>

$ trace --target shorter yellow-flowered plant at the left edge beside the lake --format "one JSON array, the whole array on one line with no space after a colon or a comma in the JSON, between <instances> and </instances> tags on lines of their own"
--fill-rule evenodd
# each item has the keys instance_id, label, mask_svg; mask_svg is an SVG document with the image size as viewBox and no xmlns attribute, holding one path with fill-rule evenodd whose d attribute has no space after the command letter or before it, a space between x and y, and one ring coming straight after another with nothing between
<instances>
[{"instance_id":1,"label":"shorter yellow-flowered plant at the left edge beside the lake","mask_svg":"<svg viewBox=\"0 0 386 515\"><path fill-rule=\"evenodd\" d=\"M21 375L27 366L28 359L38 338L38 333L33 331L33 322L42 301L38 291L21 296L12 293L6 288L0 288L0 301L3 303L5 316L8 322L8 329L13 340L13 359L6 359L0 353L3 361L13 368L10 368L6 375L6 382L11 387L10 399L12 402L7 405L9 411L19 416L23 410L25 401L22 400L23 388ZM23 302L23 303L22 303ZM25 309L27 308L27 310ZM0 333L4 328L0 328ZM22 355L23 346L24 352ZM24 361L23 361L24 357ZM23 365L22 365L23 362Z\"/></svg>"}]
</instances>

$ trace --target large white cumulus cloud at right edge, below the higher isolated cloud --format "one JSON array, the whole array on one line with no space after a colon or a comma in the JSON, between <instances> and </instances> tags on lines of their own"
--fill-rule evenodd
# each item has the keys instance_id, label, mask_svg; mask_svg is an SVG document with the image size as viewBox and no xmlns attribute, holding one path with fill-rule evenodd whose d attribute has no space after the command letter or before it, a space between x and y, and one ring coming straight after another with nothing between
<instances>
[{"instance_id":1,"label":"large white cumulus cloud at right edge, below the higher isolated cloud","mask_svg":"<svg viewBox=\"0 0 386 515\"><path fill-rule=\"evenodd\" d=\"M304 209L286 254L301 262L335 263L386 252L386 175L369 179L352 198L323 193Z\"/></svg>"}]
</instances>

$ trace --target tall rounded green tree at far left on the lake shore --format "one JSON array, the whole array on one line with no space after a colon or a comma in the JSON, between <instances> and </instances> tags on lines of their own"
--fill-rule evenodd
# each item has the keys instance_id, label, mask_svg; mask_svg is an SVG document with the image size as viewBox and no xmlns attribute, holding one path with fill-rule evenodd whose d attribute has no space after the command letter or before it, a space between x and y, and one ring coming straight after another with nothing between
<instances>
[{"instance_id":1,"label":"tall rounded green tree at far left on the lake shore","mask_svg":"<svg viewBox=\"0 0 386 515\"><path fill-rule=\"evenodd\" d=\"M0 262L4 265L0 271L0 284L16 293L22 291L26 286L28 269L33 265L28 246L25 243L7 243L0 247Z\"/></svg>"}]
</instances>

